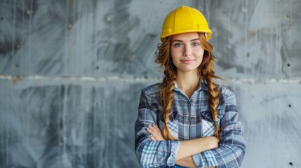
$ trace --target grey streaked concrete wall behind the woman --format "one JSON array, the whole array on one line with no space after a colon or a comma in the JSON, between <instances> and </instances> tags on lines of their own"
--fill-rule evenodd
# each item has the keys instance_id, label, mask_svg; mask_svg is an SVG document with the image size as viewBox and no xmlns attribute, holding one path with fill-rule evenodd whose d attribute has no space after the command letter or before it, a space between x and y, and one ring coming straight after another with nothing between
<instances>
[{"instance_id":1,"label":"grey streaked concrete wall behind the woman","mask_svg":"<svg viewBox=\"0 0 301 168\"><path fill-rule=\"evenodd\" d=\"M301 167L301 1L0 0L0 167L139 167L140 90L181 5L208 19L242 167Z\"/></svg>"}]
</instances>

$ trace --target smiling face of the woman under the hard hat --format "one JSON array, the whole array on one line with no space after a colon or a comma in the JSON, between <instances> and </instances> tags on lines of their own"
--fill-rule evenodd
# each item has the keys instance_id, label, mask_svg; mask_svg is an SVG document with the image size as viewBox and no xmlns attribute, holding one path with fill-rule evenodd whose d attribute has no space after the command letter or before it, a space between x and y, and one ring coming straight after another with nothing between
<instances>
[{"instance_id":1,"label":"smiling face of the woman under the hard hat","mask_svg":"<svg viewBox=\"0 0 301 168\"><path fill-rule=\"evenodd\" d=\"M172 36L170 54L178 73L198 71L204 52L200 43L197 33L176 34Z\"/></svg>"}]
</instances>

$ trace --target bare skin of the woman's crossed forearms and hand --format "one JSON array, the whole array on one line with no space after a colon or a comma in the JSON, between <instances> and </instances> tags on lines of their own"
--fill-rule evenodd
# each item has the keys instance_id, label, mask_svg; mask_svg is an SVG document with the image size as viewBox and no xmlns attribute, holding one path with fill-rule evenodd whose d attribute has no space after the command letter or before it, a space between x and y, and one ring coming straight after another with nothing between
<instances>
[{"instance_id":1,"label":"bare skin of the woman's crossed forearms and hand","mask_svg":"<svg viewBox=\"0 0 301 168\"><path fill-rule=\"evenodd\" d=\"M166 141L166 139L163 138L161 130L155 124L149 125L149 127L147 127L147 132L149 132L149 137L152 141ZM192 160L192 155L213 148L218 148L218 142L219 140L216 137L203 137L199 139L180 141L180 147L177 157L175 158L175 164L184 167L196 167Z\"/></svg>"}]
</instances>

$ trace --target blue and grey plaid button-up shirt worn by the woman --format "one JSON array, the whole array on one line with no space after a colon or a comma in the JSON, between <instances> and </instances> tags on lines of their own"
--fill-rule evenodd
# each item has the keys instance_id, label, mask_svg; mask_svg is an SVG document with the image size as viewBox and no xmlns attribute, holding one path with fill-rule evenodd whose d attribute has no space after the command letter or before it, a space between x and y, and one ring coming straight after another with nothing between
<instances>
[{"instance_id":1,"label":"blue and grey plaid button-up shirt worn by the woman","mask_svg":"<svg viewBox=\"0 0 301 168\"><path fill-rule=\"evenodd\" d=\"M227 87L220 86L218 148L192 156L196 167L239 167L245 155L243 128L237 121L236 99ZM135 151L142 167L179 167L175 165L181 140L214 136L214 124L208 106L208 85L200 81L199 88L189 99L175 84L172 113L168 122L170 133L179 141L152 141L147 125L155 123L163 130L159 84L142 90L138 118L135 123Z\"/></svg>"}]
</instances>

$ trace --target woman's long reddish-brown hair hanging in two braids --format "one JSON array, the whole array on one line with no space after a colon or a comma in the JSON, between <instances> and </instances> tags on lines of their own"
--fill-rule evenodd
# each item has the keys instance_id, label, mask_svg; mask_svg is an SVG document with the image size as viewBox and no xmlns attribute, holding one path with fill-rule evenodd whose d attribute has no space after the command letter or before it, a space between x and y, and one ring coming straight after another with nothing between
<instances>
[{"instance_id":1,"label":"woman's long reddish-brown hair hanging in two braids","mask_svg":"<svg viewBox=\"0 0 301 168\"><path fill-rule=\"evenodd\" d=\"M198 75L199 78L206 80L208 85L209 99L208 104L211 110L211 116L214 122L215 127L215 137L220 139L219 132L220 127L217 123L218 117L218 104L220 102L219 96L220 91L218 90L217 85L213 83L213 78L220 78L215 75L215 71L213 69L213 63L216 61L213 56L212 50L213 45L206 41L206 38L203 33L198 33L199 39L201 42L201 46L204 48L203 60L199 66ZM175 140L175 138L170 134L168 129L168 120L171 114L171 107L173 105L173 89L175 87L174 83L177 77L177 69L173 64L170 55L170 40L171 37L166 38L166 41L158 45L156 50L156 60L155 62L160 64L163 68L164 78L160 84L161 89L161 106L162 106L162 116L163 121L165 123L163 127L163 138L169 140Z\"/></svg>"}]
</instances>

